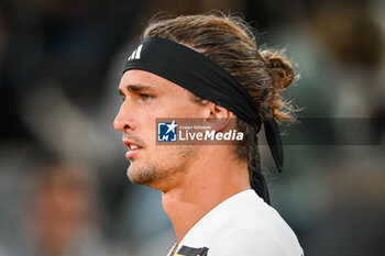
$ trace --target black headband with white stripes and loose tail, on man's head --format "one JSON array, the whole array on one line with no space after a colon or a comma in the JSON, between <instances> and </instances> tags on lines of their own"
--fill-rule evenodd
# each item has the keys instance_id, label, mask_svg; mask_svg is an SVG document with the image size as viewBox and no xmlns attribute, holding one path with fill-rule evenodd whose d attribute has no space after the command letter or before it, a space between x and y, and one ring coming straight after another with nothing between
<instances>
[{"instance_id":1,"label":"black headband with white stripes and loose tail, on man's head","mask_svg":"<svg viewBox=\"0 0 385 256\"><path fill-rule=\"evenodd\" d=\"M221 105L238 118L261 129L258 110L252 97L229 71L199 52L162 37L146 37L131 54L124 67L153 73L195 94ZM266 141L278 171L284 152L278 125L274 119L264 122Z\"/></svg>"}]
</instances>

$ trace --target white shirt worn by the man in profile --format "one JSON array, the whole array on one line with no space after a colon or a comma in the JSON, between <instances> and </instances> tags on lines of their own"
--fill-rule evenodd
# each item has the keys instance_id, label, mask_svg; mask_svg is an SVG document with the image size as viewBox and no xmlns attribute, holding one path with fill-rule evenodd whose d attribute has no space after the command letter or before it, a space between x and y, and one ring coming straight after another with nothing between
<instances>
[{"instance_id":1,"label":"white shirt worn by the man in profile","mask_svg":"<svg viewBox=\"0 0 385 256\"><path fill-rule=\"evenodd\" d=\"M304 251L278 212L249 189L200 219L182 240L176 255L302 256Z\"/></svg>"}]
</instances>

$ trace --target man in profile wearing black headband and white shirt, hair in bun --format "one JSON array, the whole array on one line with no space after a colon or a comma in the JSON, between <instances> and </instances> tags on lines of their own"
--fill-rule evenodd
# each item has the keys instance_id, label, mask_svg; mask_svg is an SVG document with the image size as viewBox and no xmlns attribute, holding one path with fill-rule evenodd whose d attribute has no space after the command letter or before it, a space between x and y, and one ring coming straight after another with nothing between
<instances>
[{"instance_id":1,"label":"man in profile wearing black headband and white shirt, hair in bun","mask_svg":"<svg viewBox=\"0 0 385 256\"><path fill-rule=\"evenodd\" d=\"M285 57L257 51L241 19L186 15L153 20L144 30L128 56L114 127L129 148L130 180L163 192L177 237L168 255L302 255L268 205L256 136L264 127L280 171L276 121L294 120L280 97L294 76ZM201 120L218 133L235 125L244 136L221 145L160 145L161 118Z\"/></svg>"}]
</instances>

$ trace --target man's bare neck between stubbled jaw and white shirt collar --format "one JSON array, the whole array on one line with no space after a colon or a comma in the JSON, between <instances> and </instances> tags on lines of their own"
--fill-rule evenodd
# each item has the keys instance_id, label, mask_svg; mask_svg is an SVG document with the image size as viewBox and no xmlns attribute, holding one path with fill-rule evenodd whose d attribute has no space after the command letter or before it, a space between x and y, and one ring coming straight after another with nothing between
<instances>
[{"instance_id":1,"label":"man's bare neck between stubbled jaw and white shirt collar","mask_svg":"<svg viewBox=\"0 0 385 256\"><path fill-rule=\"evenodd\" d=\"M178 185L163 191L163 207L173 222L177 242L209 211L228 198L250 189L248 165L228 158L199 158Z\"/></svg>"}]
</instances>

